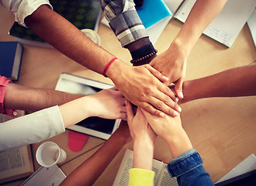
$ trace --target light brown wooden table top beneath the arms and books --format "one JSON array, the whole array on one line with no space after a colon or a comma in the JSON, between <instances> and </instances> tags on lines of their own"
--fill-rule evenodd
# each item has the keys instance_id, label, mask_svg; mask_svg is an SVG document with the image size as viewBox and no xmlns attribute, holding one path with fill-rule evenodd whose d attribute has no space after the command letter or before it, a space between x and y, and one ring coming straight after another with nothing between
<instances>
[{"instance_id":1,"label":"light brown wooden table top beneath the arms and books","mask_svg":"<svg viewBox=\"0 0 256 186\"><path fill-rule=\"evenodd\" d=\"M11 41L8 31L13 17L0 5L0 41ZM168 49L171 41L181 29L182 23L172 19L164 33L155 44L159 53ZM112 30L99 25L102 47L119 59L130 64L130 53L121 48ZM251 33L244 26L231 48L201 36L189 56L186 79L194 79L253 63L256 53ZM62 72L88 77L93 80L112 84L112 81L82 67L65 57L57 50L25 46L18 84L35 88L55 88ZM251 153L256 153L256 97L241 98L206 98L182 105L182 124L188 133L194 148L200 153L204 167L213 182L223 177ZM86 160L104 143L104 140L89 137L84 148L74 153L68 150L67 133L50 139L67 151L67 160L60 164L65 174L70 174L75 167ZM40 143L33 145L33 153ZM106 171L94 185L112 185L125 148L132 149L132 143L124 146ZM154 157L168 163L171 154L161 138L157 138ZM35 167L38 164L35 162ZM7 185L19 185L22 181Z\"/></svg>"}]
</instances>

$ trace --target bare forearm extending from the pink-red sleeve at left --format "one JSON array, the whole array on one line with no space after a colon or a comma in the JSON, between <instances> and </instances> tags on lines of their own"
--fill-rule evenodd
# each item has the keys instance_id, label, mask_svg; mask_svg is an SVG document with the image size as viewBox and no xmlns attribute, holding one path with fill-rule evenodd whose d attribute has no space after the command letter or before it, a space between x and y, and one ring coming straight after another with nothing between
<instances>
[{"instance_id":1,"label":"bare forearm extending from the pink-red sleeve at left","mask_svg":"<svg viewBox=\"0 0 256 186\"><path fill-rule=\"evenodd\" d=\"M19 84L7 84L5 90L5 108L34 112L54 105L62 105L83 95L43 88L29 88Z\"/></svg>"}]
</instances>

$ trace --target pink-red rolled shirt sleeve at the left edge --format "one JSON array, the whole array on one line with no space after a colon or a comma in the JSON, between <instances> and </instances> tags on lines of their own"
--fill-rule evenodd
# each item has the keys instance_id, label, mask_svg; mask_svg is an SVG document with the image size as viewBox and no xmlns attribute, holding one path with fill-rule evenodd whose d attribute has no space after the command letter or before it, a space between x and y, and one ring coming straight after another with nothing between
<instances>
[{"instance_id":1,"label":"pink-red rolled shirt sleeve at the left edge","mask_svg":"<svg viewBox=\"0 0 256 186\"><path fill-rule=\"evenodd\" d=\"M5 88L6 88L6 85L9 83L12 83L12 81L9 80L9 78L0 75L0 113L15 117L17 115L16 110L5 109L5 105L4 105Z\"/></svg>"}]
</instances>

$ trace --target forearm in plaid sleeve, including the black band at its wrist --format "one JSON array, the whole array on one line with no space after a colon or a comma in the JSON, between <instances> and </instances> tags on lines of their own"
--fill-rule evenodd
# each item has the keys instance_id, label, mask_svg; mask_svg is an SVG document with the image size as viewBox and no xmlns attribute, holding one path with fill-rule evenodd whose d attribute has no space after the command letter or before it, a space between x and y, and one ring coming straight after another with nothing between
<instances>
[{"instance_id":1,"label":"forearm in plaid sleeve, including the black band at its wrist","mask_svg":"<svg viewBox=\"0 0 256 186\"><path fill-rule=\"evenodd\" d=\"M153 46L152 48L146 47L144 50L138 51L141 47L145 47L151 42L132 1L100 0L100 4L113 32L122 47L130 51L133 60L145 57L154 51ZM136 65L149 64L154 57L149 57L140 63L136 63Z\"/></svg>"}]
</instances>

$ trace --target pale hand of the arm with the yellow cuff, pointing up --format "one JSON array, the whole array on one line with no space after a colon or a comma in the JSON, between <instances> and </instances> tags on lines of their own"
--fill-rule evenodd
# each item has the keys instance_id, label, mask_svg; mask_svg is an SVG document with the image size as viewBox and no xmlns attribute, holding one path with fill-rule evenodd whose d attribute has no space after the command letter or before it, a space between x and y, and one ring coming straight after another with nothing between
<instances>
[{"instance_id":1,"label":"pale hand of the arm with the yellow cuff, pointing up","mask_svg":"<svg viewBox=\"0 0 256 186\"><path fill-rule=\"evenodd\" d=\"M151 145L153 145L157 135L156 133L154 133L153 129L148 125L147 119L145 118L141 109L137 108L137 113L134 116L133 108L130 102L126 100L125 103L126 103L127 122L130 129L130 136L132 136L133 141L140 140L140 139L149 140Z\"/></svg>"}]
</instances>

